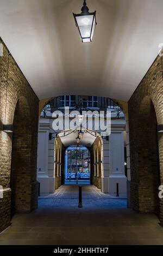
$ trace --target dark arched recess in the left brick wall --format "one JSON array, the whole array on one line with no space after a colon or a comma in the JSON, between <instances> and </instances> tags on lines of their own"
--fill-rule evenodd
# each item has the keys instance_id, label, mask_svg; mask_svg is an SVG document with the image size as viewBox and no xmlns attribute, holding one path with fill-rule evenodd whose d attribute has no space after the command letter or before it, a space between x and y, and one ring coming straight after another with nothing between
<instances>
[{"instance_id":1,"label":"dark arched recess in the left brick wall","mask_svg":"<svg viewBox=\"0 0 163 256\"><path fill-rule=\"evenodd\" d=\"M16 211L30 212L37 208L35 149L30 107L21 96L14 114L11 154L11 215Z\"/></svg>"}]
</instances>

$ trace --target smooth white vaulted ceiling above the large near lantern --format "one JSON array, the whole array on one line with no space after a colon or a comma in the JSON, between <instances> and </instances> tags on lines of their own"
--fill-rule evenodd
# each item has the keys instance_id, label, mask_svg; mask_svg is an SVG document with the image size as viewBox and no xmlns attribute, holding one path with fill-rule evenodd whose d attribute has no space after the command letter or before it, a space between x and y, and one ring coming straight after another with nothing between
<instances>
[{"instance_id":1,"label":"smooth white vaulted ceiling above the large near lantern","mask_svg":"<svg viewBox=\"0 0 163 256\"><path fill-rule=\"evenodd\" d=\"M128 100L163 43L162 0L87 0L97 10L82 44L72 12L83 0L0 0L0 37L40 99L64 94Z\"/></svg>"}]
</instances>

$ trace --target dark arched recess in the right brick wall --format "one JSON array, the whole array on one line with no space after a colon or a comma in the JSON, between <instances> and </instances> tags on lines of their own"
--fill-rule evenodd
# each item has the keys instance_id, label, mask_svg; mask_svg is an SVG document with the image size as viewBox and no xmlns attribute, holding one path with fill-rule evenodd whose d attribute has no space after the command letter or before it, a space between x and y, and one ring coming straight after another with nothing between
<instances>
[{"instance_id":1,"label":"dark arched recess in the right brick wall","mask_svg":"<svg viewBox=\"0 0 163 256\"><path fill-rule=\"evenodd\" d=\"M140 212L160 212L159 146L153 102L145 96L136 110L131 133L131 207Z\"/></svg>"}]
</instances>

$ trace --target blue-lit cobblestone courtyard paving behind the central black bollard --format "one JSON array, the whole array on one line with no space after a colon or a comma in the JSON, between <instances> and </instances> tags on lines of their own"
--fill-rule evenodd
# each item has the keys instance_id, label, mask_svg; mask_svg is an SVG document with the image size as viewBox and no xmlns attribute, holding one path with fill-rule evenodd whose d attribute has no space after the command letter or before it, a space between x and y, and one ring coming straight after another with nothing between
<instances>
[{"instance_id":1,"label":"blue-lit cobblestone courtyard paving behind the central black bollard","mask_svg":"<svg viewBox=\"0 0 163 256\"><path fill-rule=\"evenodd\" d=\"M89 208L126 208L127 200L115 197L115 195L103 194L95 186L83 186L83 207ZM124 197L124 195L123 195ZM62 207L72 209L78 206L78 186L61 186L55 194L42 196L39 199L40 208Z\"/></svg>"}]
</instances>

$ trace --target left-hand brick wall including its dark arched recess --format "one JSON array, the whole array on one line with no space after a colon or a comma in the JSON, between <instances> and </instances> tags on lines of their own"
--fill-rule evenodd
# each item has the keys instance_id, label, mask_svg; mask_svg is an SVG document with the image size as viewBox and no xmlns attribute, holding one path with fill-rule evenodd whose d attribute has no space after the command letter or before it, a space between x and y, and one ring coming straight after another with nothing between
<instances>
[{"instance_id":1,"label":"left-hand brick wall including its dark arched recess","mask_svg":"<svg viewBox=\"0 0 163 256\"><path fill-rule=\"evenodd\" d=\"M0 57L0 185L5 189L4 198L0 199L2 231L10 223L11 199L16 210L29 212L37 207L36 149L39 99L14 58L9 55L1 38L0 43L3 44L3 56ZM4 133L2 126L4 123L13 122L12 150L12 134Z\"/></svg>"}]
</instances>

